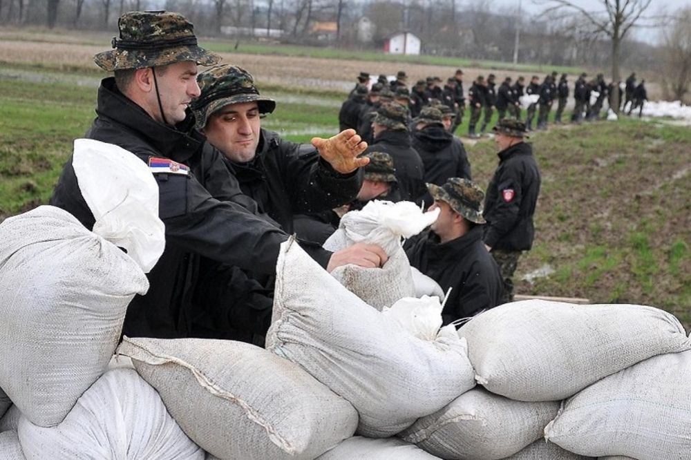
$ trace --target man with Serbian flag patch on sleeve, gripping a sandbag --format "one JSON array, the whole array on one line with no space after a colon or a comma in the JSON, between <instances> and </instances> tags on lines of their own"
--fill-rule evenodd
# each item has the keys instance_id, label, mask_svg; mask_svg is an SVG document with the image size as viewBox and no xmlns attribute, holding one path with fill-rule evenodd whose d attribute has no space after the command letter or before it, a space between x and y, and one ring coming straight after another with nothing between
<instances>
[{"instance_id":1,"label":"man with Serbian flag patch on sleeve, gripping a sandbag","mask_svg":"<svg viewBox=\"0 0 691 460\"><path fill-rule=\"evenodd\" d=\"M288 236L245 207L254 202L229 186L236 182L218 151L188 134L193 116L187 108L200 94L197 66L216 64L219 57L197 45L192 24L175 12L128 12L117 26L120 37L113 39L113 49L94 58L115 75L101 82L97 117L86 137L125 148L151 166L166 236L164 253L148 274L149 291L130 303L123 332L186 337L198 314L193 298L202 258L272 274ZM50 204L93 228L95 219L79 191L71 159ZM386 259L375 247L361 248L357 256L305 249L329 269L348 258L370 267ZM235 312L230 305L218 318L229 327L239 318L262 329L270 322L271 309Z\"/></svg>"}]
</instances>

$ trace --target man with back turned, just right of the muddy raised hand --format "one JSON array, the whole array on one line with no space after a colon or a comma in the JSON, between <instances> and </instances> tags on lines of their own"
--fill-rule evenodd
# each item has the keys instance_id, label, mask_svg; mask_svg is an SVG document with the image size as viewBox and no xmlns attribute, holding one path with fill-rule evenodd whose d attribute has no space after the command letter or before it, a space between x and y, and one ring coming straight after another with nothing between
<instances>
[{"instance_id":1,"label":"man with back turned, just right of the muddy raised hand","mask_svg":"<svg viewBox=\"0 0 691 460\"><path fill-rule=\"evenodd\" d=\"M401 200L419 202L424 193L424 166L420 155L410 146L408 109L395 102L382 104L372 118L374 141L366 153L391 155L396 169Z\"/></svg>"}]
</instances>

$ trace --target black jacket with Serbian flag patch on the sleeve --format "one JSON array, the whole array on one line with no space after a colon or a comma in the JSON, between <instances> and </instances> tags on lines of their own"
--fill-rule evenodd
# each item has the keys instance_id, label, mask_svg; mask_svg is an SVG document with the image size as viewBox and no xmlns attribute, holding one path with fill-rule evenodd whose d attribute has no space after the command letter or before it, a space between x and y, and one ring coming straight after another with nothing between
<instances>
[{"instance_id":1,"label":"black jacket with Serbian flag patch on the sleeve","mask_svg":"<svg viewBox=\"0 0 691 460\"><path fill-rule=\"evenodd\" d=\"M155 122L115 88L112 77L101 83L96 113L86 137L121 146L147 164L151 157L164 157L189 166L187 175L154 174L166 247L148 274L149 292L135 296L130 303L123 329L129 336L189 336L196 316L192 296L199 281L200 258L272 274L278 246L287 235L245 207L251 207L247 200L252 200L232 185L236 182L216 149L184 131ZM93 214L79 191L71 157L50 204L93 228ZM323 267L328 264L328 251L312 246L305 249ZM252 321L247 312L227 314Z\"/></svg>"}]
</instances>

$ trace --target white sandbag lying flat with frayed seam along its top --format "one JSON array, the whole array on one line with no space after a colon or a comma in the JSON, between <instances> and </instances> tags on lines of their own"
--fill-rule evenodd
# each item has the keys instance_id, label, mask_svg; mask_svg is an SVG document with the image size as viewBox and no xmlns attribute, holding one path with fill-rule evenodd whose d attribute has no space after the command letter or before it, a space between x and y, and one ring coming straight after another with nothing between
<instances>
[{"instance_id":1,"label":"white sandbag lying flat with frayed seam along its top","mask_svg":"<svg viewBox=\"0 0 691 460\"><path fill-rule=\"evenodd\" d=\"M132 358L184 432L222 460L314 459L357 427L348 401L247 343L126 337L118 353Z\"/></svg>"}]
</instances>

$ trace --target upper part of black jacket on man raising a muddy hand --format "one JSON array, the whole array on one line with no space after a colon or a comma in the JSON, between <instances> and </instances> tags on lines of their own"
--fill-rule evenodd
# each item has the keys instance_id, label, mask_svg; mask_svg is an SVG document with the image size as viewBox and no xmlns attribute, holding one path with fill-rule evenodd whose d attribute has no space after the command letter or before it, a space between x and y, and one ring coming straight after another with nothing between
<instances>
[{"instance_id":1,"label":"upper part of black jacket on man raising a muddy hand","mask_svg":"<svg viewBox=\"0 0 691 460\"><path fill-rule=\"evenodd\" d=\"M224 162L243 193L254 199L258 212L268 214L286 233L293 233L294 214L350 202L362 183L360 172L337 173L313 146L287 142L264 129L251 162L236 163L225 157Z\"/></svg>"}]
</instances>

